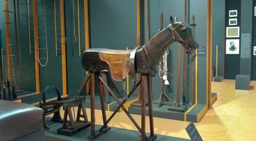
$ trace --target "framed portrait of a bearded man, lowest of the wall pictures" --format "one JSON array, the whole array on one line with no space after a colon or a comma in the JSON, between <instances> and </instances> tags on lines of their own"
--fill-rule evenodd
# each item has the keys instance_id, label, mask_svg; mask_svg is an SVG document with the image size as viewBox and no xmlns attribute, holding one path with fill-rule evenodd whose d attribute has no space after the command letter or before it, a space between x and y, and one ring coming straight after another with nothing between
<instances>
[{"instance_id":1,"label":"framed portrait of a bearded man, lowest of the wall pictures","mask_svg":"<svg viewBox=\"0 0 256 141\"><path fill-rule=\"evenodd\" d=\"M239 39L226 39L226 54L239 54Z\"/></svg>"}]
</instances>

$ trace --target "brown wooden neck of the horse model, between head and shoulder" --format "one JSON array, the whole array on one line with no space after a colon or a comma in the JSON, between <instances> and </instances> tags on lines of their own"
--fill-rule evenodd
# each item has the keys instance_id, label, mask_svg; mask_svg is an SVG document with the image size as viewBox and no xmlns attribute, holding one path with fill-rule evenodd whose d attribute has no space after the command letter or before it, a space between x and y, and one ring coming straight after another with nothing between
<instances>
[{"instance_id":1,"label":"brown wooden neck of the horse model, between head and shoulder","mask_svg":"<svg viewBox=\"0 0 256 141\"><path fill-rule=\"evenodd\" d=\"M173 34L168 28L164 28L143 46L149 57L148 65L150 68L155 68L161 62L164 52L174 42Z\"/></svg>"}]
</instances>

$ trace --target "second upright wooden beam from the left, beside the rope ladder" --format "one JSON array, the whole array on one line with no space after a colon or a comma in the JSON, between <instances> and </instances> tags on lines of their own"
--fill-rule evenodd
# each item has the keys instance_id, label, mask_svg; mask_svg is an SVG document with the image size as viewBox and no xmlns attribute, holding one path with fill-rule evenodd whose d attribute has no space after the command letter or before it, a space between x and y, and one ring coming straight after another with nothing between
<instances>
[{"instance_id":1,"label":"second upright wooden beam from the left, beside the rope ladder","mask_svg":"<svg viewBox=\"0 0 256 141\"><path fill-rule=\"evenodd\" d=\"M40 92L40 67L38 61L38 21L37 21L37 0L33 0L33 28L34 28L34 47L35 47L35 77L36 92Z\"/></svg>"}]
</instances>

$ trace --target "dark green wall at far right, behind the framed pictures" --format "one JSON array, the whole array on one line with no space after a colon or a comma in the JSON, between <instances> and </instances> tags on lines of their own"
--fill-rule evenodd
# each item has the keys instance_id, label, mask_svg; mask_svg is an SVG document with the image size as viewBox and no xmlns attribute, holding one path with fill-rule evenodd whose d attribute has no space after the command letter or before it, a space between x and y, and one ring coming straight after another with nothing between
<instances>
[{"instance_id":1,"label":"dark green wall at far right, behind the framed pictures","mask_svg":"<svg viewBox=\"0 0 256 141\"><path fill-rule=\"evenodd\" d=\"M255 1L253 4L253 1L226 1L226 26L228 25L228 11L229 10L238 10L238 24L237 26L240 26L240 34L252 34L252 46L251 49L253 50L253 47L255 46L255 28L254 28L254 6ZM232 38L234 39L234 38ZM240 52L241 47L244 46L241 42L243 42L242 38L240 39ZM234 79L236 75L242 74L242 75L250 75L252 80L255 80L255 57L252 52L252 57L242 57L242 55L225 55L225 78L226 79Z\"/></svg>"}]
</instances>

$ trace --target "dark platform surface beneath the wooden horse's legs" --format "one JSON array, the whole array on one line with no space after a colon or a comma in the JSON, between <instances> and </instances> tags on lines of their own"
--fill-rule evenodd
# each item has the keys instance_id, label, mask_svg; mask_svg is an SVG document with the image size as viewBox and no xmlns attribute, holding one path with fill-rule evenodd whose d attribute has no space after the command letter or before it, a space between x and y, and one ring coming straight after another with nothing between
<instances>
[{"instance_id":1,"label":"dark platform surface beneath the wooden horse's legs","mask_svg":"<svg viewBox=\"0 0 256 141\"><path fill-rule=\"evenodd\" d=\"M76 134L72 135L71 137L66 136L66 135L60 135L57 134L57 129L61 127L60 123L55 123L50 126L49 130L45 131L45 138L46 141L67 141L67 140L72 140L72 141L85 141L88 140L88 136L90 135L90 127L83 129L80 132L77 132ZM95 129L100 129L101 126L96 125ZM147 134L149 135L149 134ZM106 134L101 135L95 140L122 140L122 141L131 141L131 140L140 140L140 134L139 131L131 131L127 129L121 129L121 128L116 128L116 127L111 127L111 130L108 131ZM174 140L174 141L185 141L188 139L181 139L177 137L169 137L166 135L157 135L156 140Z\"/></svg>"}]
</instances>

